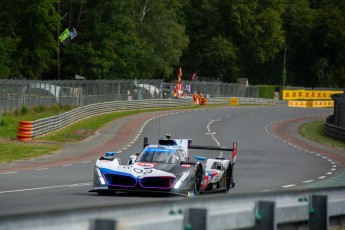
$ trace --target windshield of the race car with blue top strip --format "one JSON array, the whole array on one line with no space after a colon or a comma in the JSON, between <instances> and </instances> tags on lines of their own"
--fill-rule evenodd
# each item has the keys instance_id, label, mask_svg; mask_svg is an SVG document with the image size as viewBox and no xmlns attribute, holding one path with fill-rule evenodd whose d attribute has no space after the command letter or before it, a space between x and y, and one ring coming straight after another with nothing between
<instances>
[{"instance_id":1,"label":"windshield of the race car with blue top strip","mask_svg":"<svg viewBox=\"0 0 345 230\"><path fill-rule=\"evenodd\" d=\"M178 163L179 157L175 149L147 148L138 156L137 162L149 163Z\"/></svg>"}]
</instances>

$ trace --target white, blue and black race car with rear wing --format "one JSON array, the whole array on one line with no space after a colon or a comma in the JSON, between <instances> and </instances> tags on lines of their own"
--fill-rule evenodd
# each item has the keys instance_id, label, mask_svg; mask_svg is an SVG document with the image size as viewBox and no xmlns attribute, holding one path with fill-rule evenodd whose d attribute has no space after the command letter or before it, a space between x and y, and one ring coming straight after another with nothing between
<instances>
[{"instance_id":1,"label":"white, blue and black race car with rear wing","mask_svg":"<svg viewBox=\"0 0 345 230\"><path fill-rule=\"evenodd\" d=\"M190 149L231 151L230 159L203 156L189 160ZM159 192L186 196L224 191L235 186L233 170L236 162L237 143L232 148L195 146L191 139L160 139L158 144L148 144L132 155L126 164L116 158L116 152L107 152L99 157L94 168L93 189L100 195L116 191Z\"/></svg>"}]
</instances>

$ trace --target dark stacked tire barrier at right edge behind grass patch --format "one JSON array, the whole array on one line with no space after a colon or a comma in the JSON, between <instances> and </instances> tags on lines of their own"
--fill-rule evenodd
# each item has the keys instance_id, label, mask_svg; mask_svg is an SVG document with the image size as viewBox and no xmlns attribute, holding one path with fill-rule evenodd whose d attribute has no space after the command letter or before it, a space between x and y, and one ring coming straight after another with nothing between
<instances>
[{"instance_id":1,"label":"dark stacked tire barrier at right edge behind grass patch","mask_svg":"<svg viewBox=\"0 0 345 230\"><path fill-rule=\"evenodd\" d=\"M345 94L332 95L334 113L327 117L324 124L324 133L345 140Z\"/></svg>"}]
</instances>

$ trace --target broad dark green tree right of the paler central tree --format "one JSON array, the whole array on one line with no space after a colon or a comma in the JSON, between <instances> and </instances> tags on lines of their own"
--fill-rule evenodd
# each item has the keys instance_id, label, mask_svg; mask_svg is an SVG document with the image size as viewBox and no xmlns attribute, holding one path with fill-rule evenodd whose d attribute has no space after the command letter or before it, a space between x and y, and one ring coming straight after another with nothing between
<instances>
[{"instance_id":1,"label":"broad dark green tree right of the paler central tree","mask_svg":"<svg viewBox=\"0 0 345 230\"><path fill-rule=\"evenodd\" d=\"M227 76L226 79L236 81L236 74L240 73L253 82L260 81L260 75L266 76L263 66L280 54L285 42L281 19L284 9L284 0L192 1L186 9L189 17L186 20L189 23L187 33L191 44L183 60L189 62L199 75L209 75L207 70L214 67L209 66L210 59L206 58L204 52L217 50L219 47L216 43L210 41L220 36L229 41L230 49L236 47L238 50L236 67L231 67L233 71L227 71L227 74L234 76ZM210 44L215 47L210 47ZM227 67L219 64L219 68Z\"/></svg>"}]
</instances>

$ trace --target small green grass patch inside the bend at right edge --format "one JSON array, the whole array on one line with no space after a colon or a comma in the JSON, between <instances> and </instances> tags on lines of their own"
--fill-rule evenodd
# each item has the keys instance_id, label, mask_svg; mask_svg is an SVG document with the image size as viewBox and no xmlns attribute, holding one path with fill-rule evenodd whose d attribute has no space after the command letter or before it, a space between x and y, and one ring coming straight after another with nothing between
<instances>
[{"instance_id":1,"label":"small green grass patch inside the bend at right edge","mask_svg":"<svg viewBox=\"0 0 345 230\"><path fill-rule=\"evenodd\" d=\"M336 138L327 136L323 133L323 124L324 121L320 120L320 121L313 121L313 122L309 122L306 123L304 125L302 125L299 128L299 132L313 140L331 147L335 147L335 148L341 148L341 149L345 149L345 142L338 140Z\"/></svg>"}]
</instances>

